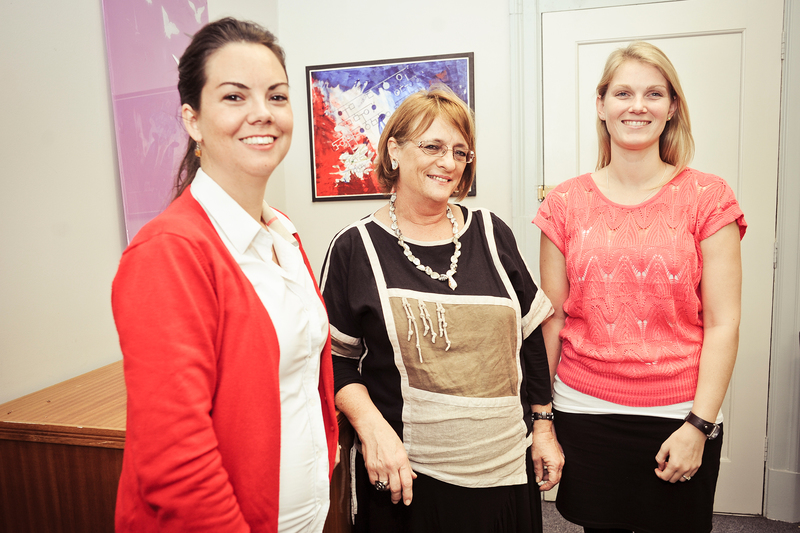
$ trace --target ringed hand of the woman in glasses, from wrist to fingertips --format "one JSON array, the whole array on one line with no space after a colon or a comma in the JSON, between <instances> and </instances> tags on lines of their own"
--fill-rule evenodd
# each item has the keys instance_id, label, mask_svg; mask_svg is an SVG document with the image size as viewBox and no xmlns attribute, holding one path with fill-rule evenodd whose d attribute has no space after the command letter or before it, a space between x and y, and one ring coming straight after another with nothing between
<instances>
[{"instance_id":1,"label":"ringed hand of the woman in glasses, from wrist to fingertips","mask_svg":"<svg viewBox=\"0 0 800 533\"><path fill-rule=\"evenodd\" d=\"M382 423L381 423L382 422ZM413 498L413 480L417 477L403 442L394 429L382 417L372 426L369 434L359 432L364 463L369 474L369 482L383 482L392 493L392 503L403 500L410 505Z\"/></svg>"}]
</instances>

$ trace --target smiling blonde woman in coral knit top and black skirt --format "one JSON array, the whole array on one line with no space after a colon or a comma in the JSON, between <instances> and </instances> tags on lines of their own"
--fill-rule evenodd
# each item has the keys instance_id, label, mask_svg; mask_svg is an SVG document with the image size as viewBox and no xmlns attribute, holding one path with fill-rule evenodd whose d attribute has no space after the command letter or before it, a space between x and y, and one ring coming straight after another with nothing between
<instances>
[{"instance_id":1,"label":"smiling blonde woman in coral knit top and black skirt","mask_svg":"<svg viewBox=\"0 0 800 533\"><path fill-rule=\"evenodd\" d=\"M733 371L746 223L689 168L672 63L635 42L597 86L597 169L545 199L542 288L566 465L557 506L587 532L711 531Z\"/></svg>"}]
</instances>

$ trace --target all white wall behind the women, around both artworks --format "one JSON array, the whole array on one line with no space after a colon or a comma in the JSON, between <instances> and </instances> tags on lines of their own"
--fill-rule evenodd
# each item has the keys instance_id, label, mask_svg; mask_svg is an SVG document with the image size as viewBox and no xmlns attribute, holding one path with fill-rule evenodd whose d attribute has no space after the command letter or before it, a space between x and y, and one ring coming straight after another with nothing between
<instances>
[{"instance_id":1,"label":"all white wall behind the women, around both artworks","mask_svg":"<svg viewBox=\"0 0 800 533\"><path fill-rule=\"evenodd\" d=\"M367 6L367 7L365 7ZM295 131L267 197L319 271L334 233L379 201L311 202L305 67L475 53L478 196L509 220L506 2L209 0L287 51ZM0 4L0 403L118 360L111 280L125 246L101 2Z\"/></svg>"}]
</instances>

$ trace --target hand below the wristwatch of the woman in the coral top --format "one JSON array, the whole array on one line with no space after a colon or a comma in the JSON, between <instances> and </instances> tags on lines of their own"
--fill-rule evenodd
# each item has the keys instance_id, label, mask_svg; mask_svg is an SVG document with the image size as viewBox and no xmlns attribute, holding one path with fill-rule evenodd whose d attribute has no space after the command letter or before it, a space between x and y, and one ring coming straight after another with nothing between
<instances>
[{"instance_id":1,"label":"hand below the wristwatch of the woman in the coral top","mask_svg":"<svg viewBox=\"0 0 800 533\"><path fill-rule=\"evenodd\" d=\"M684 422L669 436L656 455L656 475L664 481L675 483L689 481L700 469L706 436L693 425Z\"/></svg>"}]
</instances>

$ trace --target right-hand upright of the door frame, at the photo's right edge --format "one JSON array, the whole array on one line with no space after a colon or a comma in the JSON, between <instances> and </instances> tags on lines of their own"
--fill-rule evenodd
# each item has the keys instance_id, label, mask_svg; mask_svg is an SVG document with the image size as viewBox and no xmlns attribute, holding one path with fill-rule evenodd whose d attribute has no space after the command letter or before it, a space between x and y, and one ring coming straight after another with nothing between
<instances>
[{"instance_id":1,"label":"right-hand upright of the door frame, at the photo's right edge","mask_svg":"<svg viewBox=\"0 0 800 533\"><path fill-rule=\"evenodd\" d=\"M784 0L764 515L800 522L800 0Z\"/></svg>"}]
</instances>

